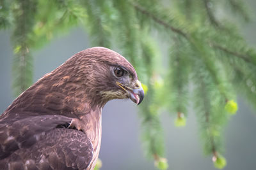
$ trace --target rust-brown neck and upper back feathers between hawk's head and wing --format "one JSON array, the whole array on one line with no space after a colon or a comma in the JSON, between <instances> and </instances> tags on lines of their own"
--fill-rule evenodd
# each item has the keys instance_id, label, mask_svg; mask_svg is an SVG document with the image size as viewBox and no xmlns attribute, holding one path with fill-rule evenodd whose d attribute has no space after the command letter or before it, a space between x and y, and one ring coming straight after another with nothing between
<instances>
[{"instance_id":1,"label":"rust-brown neck and upper back feathers between hawk's head and wing","mask_svg":"<svg viewBox=\"0 0 256 170\"><path fill-rule=\"evenodd\" d=\"M20 94L4 113L15 111L81 117L92 110L101 110L105 104L95 103L97 100L93 95L88 96L89 92L90 87L80 78L52 76L50 73Z\"/></svg>"}]
</instances>

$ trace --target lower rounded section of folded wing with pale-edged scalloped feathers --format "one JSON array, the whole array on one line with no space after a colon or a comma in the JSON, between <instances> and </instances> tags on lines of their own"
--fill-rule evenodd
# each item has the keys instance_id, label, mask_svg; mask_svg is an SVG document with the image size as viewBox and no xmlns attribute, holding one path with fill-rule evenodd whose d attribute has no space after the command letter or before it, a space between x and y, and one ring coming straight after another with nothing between
<instances>
[{"instance_id":1,"label":"lower rounded section of folded wing with pale-edged scalloped feathers","mask_svg":"<svg viewBox=\"0 0 256 170\"><path fill-rule=\"evenodd\" d=\"M86 169L93 148L86 134L75 129L56 128L42 134L29 148L22 148L0 160L3 169ZM22 168L23 167L23 168ZM0 168L1 169L1 168Z\"/></svg>"}]
</instances>

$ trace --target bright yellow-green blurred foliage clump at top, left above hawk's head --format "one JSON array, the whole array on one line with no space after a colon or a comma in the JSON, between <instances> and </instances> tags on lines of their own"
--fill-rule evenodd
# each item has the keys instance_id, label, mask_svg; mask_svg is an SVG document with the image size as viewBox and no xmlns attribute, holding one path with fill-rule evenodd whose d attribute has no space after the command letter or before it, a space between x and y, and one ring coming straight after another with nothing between
<instances>
[{"instance_id":1,"label":"bright yellow-green blurred foliage clump at top, left above hawk's head","mask_svg":"<svg viewBox=\"0 0 256 170\"><path fill-rule=\"evenodd\" d=\"M76 24L84 24L86 10L78 1L44 1L39 0L33 27L32 48L40 48L54 36L69 31Z\"/></svg>"}]
</instances>

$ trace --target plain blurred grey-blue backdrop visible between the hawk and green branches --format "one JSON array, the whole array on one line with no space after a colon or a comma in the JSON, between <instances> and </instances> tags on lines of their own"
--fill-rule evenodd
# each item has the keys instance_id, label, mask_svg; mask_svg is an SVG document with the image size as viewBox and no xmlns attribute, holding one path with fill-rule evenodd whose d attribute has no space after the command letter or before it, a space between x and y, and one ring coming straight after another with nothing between
<instances>
[{"instance_id":1,"label":"plain blurred grey-blue backdrop visible between the hawk and green branches","mask_svg":"<svg viewBox=\"0 0 256 170\"><path fill-rule=\"evenodd\" d=\"M255 0L247 0L256 7ZM253 8L252 8L253 9ZM256 12L254 12L256 14ZM256 48L256 16L253 22L241 25L246 41ZM34 58L34 82L45 73L60 66L71 55L91 47L89 39L81 27L73 28L65 36L52 39L51 43L32 52ZM10 31L0 31L0 113L12 103L12 45ZM256 73L255 73L256 74ZM147 96L145 96L147 97ZM224 156L227 170L256 169L256 114L238 99L239 110L230 118L225 128ZM152 160L143 155L140 143L140 118L138 107L131 101L114 100L106 104L102 111L101 170L115 169L155 169ZM215 169L211 157L205 157L200 145L195 113L188 113L187 125L178 129L173 125L174 117L163 113L166 157L169 169Z\"/></svg>"}]
</instances>

